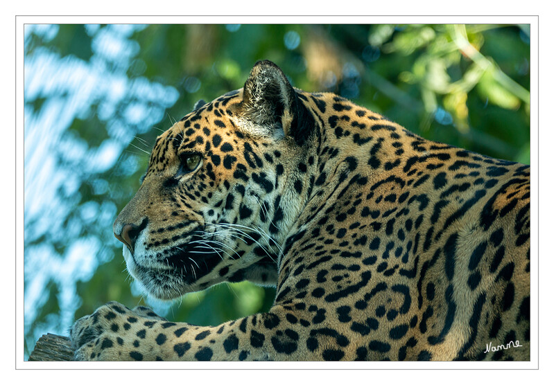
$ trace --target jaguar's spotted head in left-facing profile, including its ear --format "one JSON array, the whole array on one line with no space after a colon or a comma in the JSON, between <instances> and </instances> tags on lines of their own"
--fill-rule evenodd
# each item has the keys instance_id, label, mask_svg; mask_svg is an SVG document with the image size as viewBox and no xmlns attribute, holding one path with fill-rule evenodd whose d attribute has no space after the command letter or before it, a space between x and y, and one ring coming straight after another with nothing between
<instances>
[{"instance_id":1,"label":"jaguar's spotted head in left-facing profile, including its ear","mask_svg":"<svg viewBox=\"0 0 554 385\"><path fill-rule=\"evenodd\" d=\"M288 229L315 168L313 117L272 62L243 89L192 111L157 138L135 197L114 223L130 274L156 298L216 283L275 285ZM299 164L304 169L299 170Z\"/></svg>"}]
</instances>

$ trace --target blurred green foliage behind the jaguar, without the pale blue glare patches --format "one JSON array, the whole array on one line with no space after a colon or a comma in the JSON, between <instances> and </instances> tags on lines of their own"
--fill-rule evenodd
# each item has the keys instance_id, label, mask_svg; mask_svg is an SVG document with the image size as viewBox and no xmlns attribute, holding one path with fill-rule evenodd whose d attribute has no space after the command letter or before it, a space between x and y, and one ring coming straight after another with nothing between
<instances>
[{"instance_id":1,"label":"blurred green foliage behind the jaguar, without the pale blue glare patches","mask_svg":"<svg viewBox=\"0 0 554 385\"><path fill-rule=\"evenodd\" d=\"M102 100L90 100L87 113L73 118L60 138L60 143L81 143L89 149L98 149L109 138L124 143L116 164L101 172L84 172L78 159L67 159L60 152L58 166L81 173L80 186L76 193L59 192L70 206L69 214L48 213L43 219L61 222L67 232L60 239L48 233L26 238L26 251L49 245L59 256L65 255L69 238L94 234L102 240L100 251L92 256L98 258L94 276L78 278L76 283L80 303L75 319L107 301L130 307L144 302L130 287L121 246L111 234L114 217L139 187L156 136L191 111L200 98L212 100L242 87L257 60L277 63L295 87L338 93L426 138L530 163L528 25L140 26L122 40L127 44L122 48L128 50L127 62L105 55L98 64L96 37L109 28L63 25L52 33L54 37L37 32L26 37L26 58L49 52L57 60L102 65L106 73L123 73L128 82L148 80L178 93L175 102L125 95L109 114ZM55 98L65 100L64 93L26 98L26 114L40 118L44 106ZM155 127L129 120L128 111L137 104L156 114L164 111ZM118 127L134 134L125 136ZM107 214L87 217L84 207L91 204L105 208L101 212ZM27 232L37 224L25 226ZM27 252L25 258L26 264L32 262L27 261L31 258ZM26 288L33 279L26 275ZM46 300L35 318L26 322L27 352L37 336L51 331L45 329L63 311L56 282L44 284ZM274 294L274 289L249 283L218 285L166 306L166 317L216 325L268 309Z\"/></svg>"}]
</instances>

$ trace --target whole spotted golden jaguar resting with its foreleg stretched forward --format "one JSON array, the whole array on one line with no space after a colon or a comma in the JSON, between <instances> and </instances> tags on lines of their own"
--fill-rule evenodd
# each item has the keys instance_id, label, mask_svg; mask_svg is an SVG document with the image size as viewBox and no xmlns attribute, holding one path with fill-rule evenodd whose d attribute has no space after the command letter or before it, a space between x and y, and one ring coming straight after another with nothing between
<instances>
[{"instance_id":1,"label":"whole spotted golden jaguar resting with its foreleg stretched forward","mask_svg":"<svg viewBox=\"0 0 554 385\"><path fill-rule=\"evenodd\" d=\"M113 229L150 296L249 280L275 300L216 326L108 303L71 328L76 360L530 359L530 167L268 60L157 138Z\"/></svg>"}]
</instances>

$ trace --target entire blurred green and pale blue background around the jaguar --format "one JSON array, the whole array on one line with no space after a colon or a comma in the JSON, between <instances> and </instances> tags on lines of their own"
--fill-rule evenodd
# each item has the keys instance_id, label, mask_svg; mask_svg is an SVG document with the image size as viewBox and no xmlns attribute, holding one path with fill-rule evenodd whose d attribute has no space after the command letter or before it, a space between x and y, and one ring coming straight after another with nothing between
<instances>
[{"instance_id":1,"label":"entire blurred green and pale blue background around the jaguar","mask_svg":"<svg viewBox=\"0 0 554 385\"><path fill-rule=\"evenodd\" d=\"M142 296L112 235L157 135L277 63L435 141L530 163L530 26L35 25L24 45L25 359L107 301L199 325L268 309L274 289Z\"/></svg>"}]
</instances>

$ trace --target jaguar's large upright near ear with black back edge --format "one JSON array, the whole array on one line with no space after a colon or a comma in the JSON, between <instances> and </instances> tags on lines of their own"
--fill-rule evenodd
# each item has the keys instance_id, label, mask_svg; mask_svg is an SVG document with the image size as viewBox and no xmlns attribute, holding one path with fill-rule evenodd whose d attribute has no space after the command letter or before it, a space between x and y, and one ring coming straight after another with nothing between
<instances>
[{"instance_id":1,"label":"jaguar's large upright near ear with black back edge","mask_svg":"<svg viewBox=\"0 0 554 385\"><path fill-rule=\"evenodd\" d=\"M269 60L254 64L239 108L241 116L270 130L281 126L285 135L297 141L306 137L306 120L313 121L283 71Z\"/></svg>"}]
</instances>

